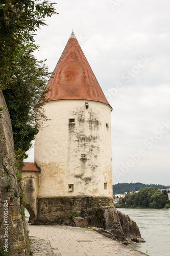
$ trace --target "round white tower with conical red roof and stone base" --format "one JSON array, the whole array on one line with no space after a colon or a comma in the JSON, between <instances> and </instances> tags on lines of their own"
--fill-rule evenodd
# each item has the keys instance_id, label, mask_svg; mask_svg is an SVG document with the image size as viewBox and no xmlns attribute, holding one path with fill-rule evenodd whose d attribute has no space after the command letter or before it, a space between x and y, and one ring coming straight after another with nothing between
<instances>
[{"instance_id":1,"label":"round white tower with conical red roof and stone base","mask_svg":"<svg viewBox=\"0 0 170 256\"><path fill-rule=\"evenodd\" d=\"M35 138L39 222L57 222L64 211L68 216L83 207L113 204L112 108L74 32L53 73L44 105L50 120Z\"/></svg>"}]
</instances>

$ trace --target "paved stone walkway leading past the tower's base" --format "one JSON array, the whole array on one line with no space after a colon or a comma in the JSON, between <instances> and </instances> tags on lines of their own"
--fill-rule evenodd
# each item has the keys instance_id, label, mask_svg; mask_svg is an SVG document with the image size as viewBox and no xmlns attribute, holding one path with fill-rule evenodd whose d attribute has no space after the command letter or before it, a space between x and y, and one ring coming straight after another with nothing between
<instances>
[{"instance_id":1,"label":"paved stone walkway leading past the tower's base","mask_svg":"<svg viewBox=\"0 0 170 256\"><path fill-rule=\"evenodd\" d=\"M146 255L86 228L29 225L34 256L141 256Z\"/></svg>"}]
</instances>

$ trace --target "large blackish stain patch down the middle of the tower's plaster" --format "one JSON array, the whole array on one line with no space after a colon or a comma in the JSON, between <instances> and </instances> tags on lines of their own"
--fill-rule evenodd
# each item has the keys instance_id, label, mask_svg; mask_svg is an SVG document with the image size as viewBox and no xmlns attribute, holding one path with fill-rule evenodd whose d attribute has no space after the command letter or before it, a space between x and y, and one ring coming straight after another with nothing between
<instances>
[{"instance_id":1,"label":"large blackish stain patch down the middle of the tower's plaster","mask_svg":"<svg viewBox=\"0 0 170 256\"><path fill-rule=\"evenodd\" d=\"M94 112L92 109L76 108L75 111L70 111L69 115L70 118L75 118L75 123L68 123L68 166L71 156L74 155L75 157L77 155L79 166L75 167L80 168L82 172L86 168L94 172L98 166L93 165L91 167L91 161L89 162L88 160L92 157L97 161L100 154L98 145L100 140L99 127L101 126L99 113L97 111ZM81 154L87 154L89 157L82 158ZM80 179L82 180L83 177L81 176Z\"/></svg>"}]
</instances>

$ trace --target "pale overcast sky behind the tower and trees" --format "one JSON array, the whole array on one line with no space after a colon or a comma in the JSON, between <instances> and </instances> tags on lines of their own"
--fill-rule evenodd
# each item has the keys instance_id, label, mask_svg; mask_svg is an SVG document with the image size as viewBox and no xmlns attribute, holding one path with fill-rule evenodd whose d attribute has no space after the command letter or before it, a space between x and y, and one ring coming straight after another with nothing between
<instances>
[{"instance_id":1,"label":"pale overcast sky behind the tower and trees","mask_svg":"<svg viewBox=\"0 0 170 256\"><path fill-rule=\"evenodd\" d=\"M35 55L53 71L74 29L113 108L113 184L170 185L169 0L57 0L56 11Z\"/></svg>"}]
</instances>

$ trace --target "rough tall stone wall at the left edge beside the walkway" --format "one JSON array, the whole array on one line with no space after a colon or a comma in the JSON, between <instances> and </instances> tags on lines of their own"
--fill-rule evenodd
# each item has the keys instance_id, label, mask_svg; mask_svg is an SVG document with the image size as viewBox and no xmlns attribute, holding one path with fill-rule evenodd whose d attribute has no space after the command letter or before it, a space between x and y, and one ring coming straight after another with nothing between
<instances>
[{"instance_id":1,"label":"rough tall stone wall at the left edge beside the walkway","mask_svg":"<svg viewBox=\"0 0 170 256\"><path fill-rule=\"evenodd\" d=\"M6 102L0 91L0 106L2 105L6 106ZM0 244L8 251L8 255L30 255L28 231L21 217L18 184L14 172L12 127L7 109L0 116L0 129ZM8 218L5 218L4 212Z\"/></svg>"}]
</instances>

